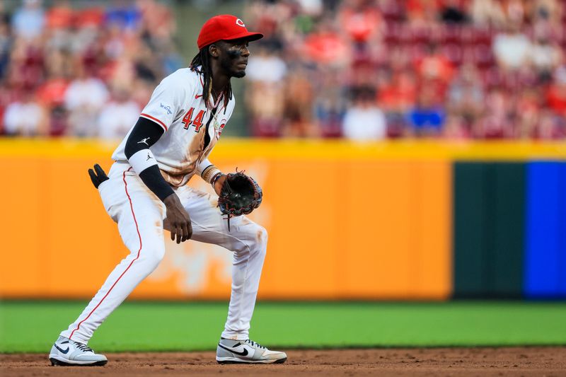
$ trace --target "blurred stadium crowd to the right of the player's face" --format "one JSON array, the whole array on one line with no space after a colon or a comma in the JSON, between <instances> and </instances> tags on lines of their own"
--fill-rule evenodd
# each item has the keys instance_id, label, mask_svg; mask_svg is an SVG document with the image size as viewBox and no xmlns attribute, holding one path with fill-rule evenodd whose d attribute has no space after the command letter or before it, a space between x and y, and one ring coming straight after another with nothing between
<instances>
[{"instance_id":1,"label":"blurred stadium crowd to the right of the player's face","mask_svg":"<svg viewBox=\"0 0 566 377\"><path fill-rule=\"evenodd\" d=\"M253 1L262 137L561 139L565 0ZM257 45L257 47L256 47Z\"/></svg>"}]
</instances>

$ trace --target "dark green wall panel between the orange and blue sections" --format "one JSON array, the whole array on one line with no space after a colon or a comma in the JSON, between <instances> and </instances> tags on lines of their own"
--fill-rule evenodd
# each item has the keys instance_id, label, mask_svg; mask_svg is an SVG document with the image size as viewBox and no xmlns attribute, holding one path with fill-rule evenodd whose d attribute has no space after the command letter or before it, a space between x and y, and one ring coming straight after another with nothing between
<instances>
[{"instance_id":1,"label":"dark green wall panel between the orange and blue sections","mask_svg":"<svg viewBox=\"0 0 566 377\"><path fill-rule=\"evenodd\" d=\"M520 297L525 163L461 162L454 169L454 295Z\"/></svg>"}]
</instances>

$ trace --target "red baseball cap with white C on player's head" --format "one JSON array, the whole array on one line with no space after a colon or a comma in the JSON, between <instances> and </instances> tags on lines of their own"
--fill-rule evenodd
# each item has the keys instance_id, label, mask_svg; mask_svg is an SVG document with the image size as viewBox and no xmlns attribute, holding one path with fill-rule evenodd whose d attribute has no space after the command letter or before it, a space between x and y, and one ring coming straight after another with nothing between
<instances>
[{"instance_id":1,"label":"red baseball cap with white C on player's head","mask_svg":"<svg viewBox=\"0 0 566 377\"><path fill-rule=\"evenodd\" d=\"M221 14L209 19L200 29L197 45L199 50L219 40L237 40L247 38L258 40L263 37L262 33L252 33L246 29L243 21L231 14Z\"/></svg>"}]
</instances>

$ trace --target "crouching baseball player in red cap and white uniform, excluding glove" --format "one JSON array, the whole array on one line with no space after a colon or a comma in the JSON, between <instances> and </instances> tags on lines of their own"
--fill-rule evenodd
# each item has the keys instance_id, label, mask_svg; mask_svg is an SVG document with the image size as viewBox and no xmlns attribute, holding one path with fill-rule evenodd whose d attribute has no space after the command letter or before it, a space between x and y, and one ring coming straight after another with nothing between
<instances>
[{"instance_id":1,"label":"crouching baseball player in red cap and white uniform, excluding glove","mask_svg":"<svg viewBox=\"0 0 566 377\"><path fill-rule=\"evenodd\" d=\"M53 365L104 365L87 346L93 332L163 258L163 228L177 243L193 239L233 251L228 318L216 349L219 363L282 363L284 352L270 351L249 339L250 320L267 248L265 228L245 216L231 220L229 231L216 196L186 183L198 174L217 194L226 175L209 153L229 121L235 100L230 80L246 75L251 33L240 18L210 18L200 30L200 52L190 68L167 76L112 154L108 177L91 173L104 207L117 223L130 253L110 273L88 306L61 332L50 352ZM165 226L164 226L165 224Z\"/></svg>"}]
</instances>

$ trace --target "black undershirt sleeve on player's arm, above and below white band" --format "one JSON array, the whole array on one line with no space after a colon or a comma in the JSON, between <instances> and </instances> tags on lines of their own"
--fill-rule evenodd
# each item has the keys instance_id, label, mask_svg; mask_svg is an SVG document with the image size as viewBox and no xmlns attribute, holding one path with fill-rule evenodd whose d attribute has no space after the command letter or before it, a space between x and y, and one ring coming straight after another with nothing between
<instances>
[{"instance_id":1,"label":"black undershirt sleeve on player's arm, above and below white band","mask_svg":"<svg viewBox=\"0 0 566 377\"><path fill-rule=\"evenodd\" d=\"M156 122L144 117L139 117L126 141L124 149L126 158L129 159L134 156L136 152L143 149L149 149L150 146L158 141L163 133L163 128ZM138 175L147 188L149 188L151 192L154 192L162 202L166 197L174 193L171 186L163 179L163 175L161 175L161 171L157 165L146 168L144 171L138 173Z\"/></svg>"}]
</instances>

